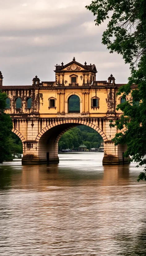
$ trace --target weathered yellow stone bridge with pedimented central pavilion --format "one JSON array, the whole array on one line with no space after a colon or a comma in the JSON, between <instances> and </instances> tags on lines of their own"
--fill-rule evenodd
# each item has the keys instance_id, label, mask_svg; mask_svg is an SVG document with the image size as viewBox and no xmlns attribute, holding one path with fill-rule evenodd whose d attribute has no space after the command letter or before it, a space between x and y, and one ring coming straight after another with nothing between
<instances>
[{"instance_id":1,"label":"weathered yellow stone bridge with pedimented central pavilion","mask_svg":"<svg viewBox=\"0 0 146 256\"><path fill-rule=\"evenodd\" d=\"M0 73L0 89L8 95L6 113L11 115L12 131L23 143L22 163L58 163L59 139L80 125L90 126L102 136L103 164L127 163L123 157L126 145L114 146L117 129L109 127L109 120L122 114L116 110L123 101L121 95L116 96L122 84L116 84L112 74L108 80L96 81L95 64L80 64L75 58L55 67L55 82L41 82L36 76L27 86L3 86ZM70 110L73 95L79 99L78 111Z\"/></svg>"}]
</instances>

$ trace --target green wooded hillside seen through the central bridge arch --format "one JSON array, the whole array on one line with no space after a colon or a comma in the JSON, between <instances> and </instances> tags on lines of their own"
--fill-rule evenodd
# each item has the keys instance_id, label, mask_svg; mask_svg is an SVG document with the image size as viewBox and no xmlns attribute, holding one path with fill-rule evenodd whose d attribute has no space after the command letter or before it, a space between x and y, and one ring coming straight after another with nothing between
<instances>
[{"instance_id":1,"label":"green wooded hillside seen through the central bridge arch","mask_svg":"<svg viewBox=\"0 0 146 256\"><path fill-rule=\"evenodd\" d=\"M59 150L78 150L81 144L90 148L99 148L103 141L101 135L88 126L77 126L64 133L59 140Z\"/></svg>"}]
</instances>

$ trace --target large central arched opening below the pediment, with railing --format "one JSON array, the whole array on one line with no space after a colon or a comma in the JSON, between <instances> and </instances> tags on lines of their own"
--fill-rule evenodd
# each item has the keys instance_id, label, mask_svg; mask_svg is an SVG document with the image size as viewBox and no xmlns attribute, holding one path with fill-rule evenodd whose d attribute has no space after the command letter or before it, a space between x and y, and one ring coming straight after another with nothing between
<instances>
[{"instance_id":1,"label":"large central arched opening below the pediment, with railing","mask_svg":"<svg viewBox=\"0 0 146 256\"><path fill-rule=\"evenodd\" d=\"M68 113L80 113L80 99L77 95L71 95L69 97Z\"/></svg>"}]
</instances>

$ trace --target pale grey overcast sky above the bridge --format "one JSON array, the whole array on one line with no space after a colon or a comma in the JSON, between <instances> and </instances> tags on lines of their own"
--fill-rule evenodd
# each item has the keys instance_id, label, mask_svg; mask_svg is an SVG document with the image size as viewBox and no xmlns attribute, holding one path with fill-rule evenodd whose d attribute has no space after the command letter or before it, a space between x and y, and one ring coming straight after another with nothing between
<instances>
[{"instance_id":1,"label":"pale grey overcast sky above the bridge","mask_svg":"<svg viewBox=\"0 0 146 256\"><path fill-rule=\"evenodd\" d=\"M97 79L112 73L116 83L130 75L122 57L101 44L106 24L95 26L85 6L91 0L0 0L0 70L3 85L55 81L54 65L76 61L95 64Z\"/></svg>"}]
</instances>

